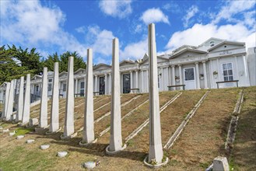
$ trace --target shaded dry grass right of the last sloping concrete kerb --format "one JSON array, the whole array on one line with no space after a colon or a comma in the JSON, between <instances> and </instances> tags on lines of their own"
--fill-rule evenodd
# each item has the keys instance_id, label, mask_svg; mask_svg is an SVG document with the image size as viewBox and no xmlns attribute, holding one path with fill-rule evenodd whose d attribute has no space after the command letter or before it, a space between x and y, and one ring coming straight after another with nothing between
<instances>
[{"instance_id":1,"label":"shaded dry grass right of the last sloping concrete kerb","mask_svg":"<svg viewBox=\"0 0 256 171\"><path fill-rule=\"evenodd\" d=\"M256 87L244 89L244 103L230 164L235 170L256 170Z\"/></svg>"}]
</instances>

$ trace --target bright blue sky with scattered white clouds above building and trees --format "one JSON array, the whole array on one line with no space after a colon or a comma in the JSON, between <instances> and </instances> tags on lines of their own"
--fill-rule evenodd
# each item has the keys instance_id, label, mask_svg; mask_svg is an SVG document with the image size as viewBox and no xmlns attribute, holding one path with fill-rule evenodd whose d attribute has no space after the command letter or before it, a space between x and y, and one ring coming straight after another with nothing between
<instances>
[{"instance_id":1,"label":"bright blue sky with scattered white clouds above building and trees","mask_svg":"<svg viewBox=\"0 0 256 171\"><path fill-rule=\"evenodd\" d=\"M147 26L156 24L158 54L210 37L246 42L256 39L255 1L33 1L1 0L0 45L36 47L40 54L77 51L93 63L111 62L114 37L120 60L147 52Z\"/></svg>"}]
</instances>

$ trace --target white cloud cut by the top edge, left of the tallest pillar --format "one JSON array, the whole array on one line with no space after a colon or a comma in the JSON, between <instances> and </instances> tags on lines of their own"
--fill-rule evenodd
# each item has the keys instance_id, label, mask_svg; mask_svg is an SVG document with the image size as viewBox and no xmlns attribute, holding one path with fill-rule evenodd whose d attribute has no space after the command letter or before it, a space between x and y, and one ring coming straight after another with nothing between
<instances>
[{"instance_id":1,"label":"white cloud cut by the top edge, left of the tallest pillar","mask_svg":"<svg viewBox=\"0 0 256 171\"><path fill-rule=\"evenodd\" d=\"M99 6L100 10L107 14L108 16L113 16L117 18L124 18L132 13L132 0L125 1L110 1L103 0L100 1Z\"/></svg>"}]
</instances>

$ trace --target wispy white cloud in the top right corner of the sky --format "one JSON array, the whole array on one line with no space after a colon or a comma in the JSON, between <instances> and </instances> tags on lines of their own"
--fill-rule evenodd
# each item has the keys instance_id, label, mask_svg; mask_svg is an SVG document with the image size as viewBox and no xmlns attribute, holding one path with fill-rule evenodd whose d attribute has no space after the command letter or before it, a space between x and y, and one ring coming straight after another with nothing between
<instances>
[{"instance_id":1,"label":"wispy white cloud in the top right corner of the sky","mask_svg":"<svg viewBox=\"0 0 256 171\"><path fill-rule=\"evenodd\" d=\"M226 5L224 5L217 15L214 16L215 19L212 21L212 23L219 23L221 19L233 21L234 15L254 8L255 4L255 1L227 1Z\"/></svg>"}]
</instances>

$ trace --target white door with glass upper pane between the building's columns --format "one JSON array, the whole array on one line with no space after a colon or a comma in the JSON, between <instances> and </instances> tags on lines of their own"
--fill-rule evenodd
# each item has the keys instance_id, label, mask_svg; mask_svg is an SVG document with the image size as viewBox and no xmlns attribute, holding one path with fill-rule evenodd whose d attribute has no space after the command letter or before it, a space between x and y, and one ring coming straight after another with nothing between
<instances>
[{"instance_id":1,"label":"white door with glass upper pane between the building's columns","mask_svg":"<svg viewBox=\"0 0 256 171\"><path fill-rule=\"evenodd\" d=\"M184 68L185 89L195 89L195 68Z\"/></svg>"}]
</instances>

